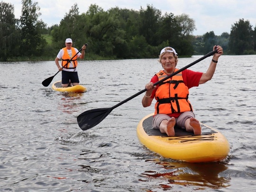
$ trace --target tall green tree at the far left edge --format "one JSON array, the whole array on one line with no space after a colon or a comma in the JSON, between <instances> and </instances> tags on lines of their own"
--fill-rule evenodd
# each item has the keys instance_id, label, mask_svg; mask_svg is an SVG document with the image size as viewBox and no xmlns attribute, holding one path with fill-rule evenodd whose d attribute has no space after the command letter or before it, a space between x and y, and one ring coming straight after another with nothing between
<instances>
[{"instance_id":1,"label":"tall green tree at the far left edge","mask_svg":"<svg viewBox=\"0 0 256 192\"><path fill-rule=\"evenodd\" d=\"M0 2L0 61L18 54L20 33L16 28L18 19L14 16L14 6Z\"/></svg>"}]
</instances>

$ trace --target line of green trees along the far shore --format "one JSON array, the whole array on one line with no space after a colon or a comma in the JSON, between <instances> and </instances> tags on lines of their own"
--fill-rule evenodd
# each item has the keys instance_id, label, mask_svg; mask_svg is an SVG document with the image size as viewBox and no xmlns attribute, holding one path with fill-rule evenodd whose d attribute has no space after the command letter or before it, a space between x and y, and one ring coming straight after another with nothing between
<instances>
[{"instance_id":1,"label":"line of green trees along the far shore","mask_svg":"<svg viewBox=\"0 0 256 192\"><path fill-rule=\"evenodd\" d=\"M75 3L60 24L51 27L39 20L40 15L32 0L22 0L20 18L15 18L14 5L0 2L0 61L55 58L66 38L72 38L76 48L87 43L88 60L156 58L165 46L174 47L179 56L205 55L213 45L221 45L229 55L256 54L256 27L244 19L231 26L230 34L216 36L210 31L193 36L194 19L185 13L162 14L150 5L138 11L118 7L104 11L91 4L80 14Z\"/></svg>"}]
</instances>

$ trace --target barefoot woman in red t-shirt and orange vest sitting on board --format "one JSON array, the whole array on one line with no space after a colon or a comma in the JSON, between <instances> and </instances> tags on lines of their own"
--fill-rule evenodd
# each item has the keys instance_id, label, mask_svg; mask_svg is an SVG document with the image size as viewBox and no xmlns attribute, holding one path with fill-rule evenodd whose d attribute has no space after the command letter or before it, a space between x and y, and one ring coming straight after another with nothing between
<instances>
[{"instance_id":1,"label":"barefoot woman in red t-shirt and orange vest sitting on board","mask_svg":"<svg viewBox=\"0 0 256 192\"><path fill-rule=\"evenodd\" d=\"M195 135L201 135L200 123L195 119L192 105L188 100L189 89L211 80L219 56L223 54L221 46L214 46L213 50L215 49L217 49L217 52L213 55L206 73L184 69L182 72L154 86L155 82L178 71L176 68L178 54L175 49L165 47L161 50L159 62L164 70L156 73L151 81L146 84L147 91L142 99L143 107L150 106L154 98L156 100L153 128L160 129L161 133L166 133L168 136L174 136L174 126L177 125L185 128L188 132L194 132Z\"/></svg>"}]
</instances>

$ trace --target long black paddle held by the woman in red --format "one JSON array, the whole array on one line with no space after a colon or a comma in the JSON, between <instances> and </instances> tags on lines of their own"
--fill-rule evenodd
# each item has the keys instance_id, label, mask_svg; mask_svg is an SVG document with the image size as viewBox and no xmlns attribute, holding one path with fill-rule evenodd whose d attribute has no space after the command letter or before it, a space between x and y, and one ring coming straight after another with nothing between
<instances>
[{"instance_id":1,"label":"long black paddle held by the woman in red","mask_svg":"<svg viewBox=\"0 0 256 192\"><path fill-rule=\"evenodd\" d=\"M210 53L204 55L203 57L201 57L200 59L194 61L193 63L181 68L180 70L168 75L167 77L165 77L164 79L158 81L158 82L155 82L154 83L154 86L155 85L158 85L159 83L161 82L164 82L165 80L169 79L170 77L174 76L175 74L178 74L180 72L182 72L183 70L191 67L192 65L200 62L201 60L209 57L210 55L213 55L217 53L217 50L215 49L214 51L211 51ZM146 89L144 90L141 90L139 91L138 93L136 93L135 95L129 97L128 99L122 101L122 102L119 102L118 104L116 104L115 106L111 107L111 108L100 108L100 109L93 109L93 110L87 110L87 111L84 111L83 113L81 113L78 117L77 117L77 123L79 125L79 127L85 131L89 128L93 128L94 126L98 125L103 119L105 119L109 114L110 112L119 107L120 105L124 104L125 102L127 101L130 101L131 99L137 97L138 95L140 95L141 93L145 92Z\"/></svg>"}]
</instances>

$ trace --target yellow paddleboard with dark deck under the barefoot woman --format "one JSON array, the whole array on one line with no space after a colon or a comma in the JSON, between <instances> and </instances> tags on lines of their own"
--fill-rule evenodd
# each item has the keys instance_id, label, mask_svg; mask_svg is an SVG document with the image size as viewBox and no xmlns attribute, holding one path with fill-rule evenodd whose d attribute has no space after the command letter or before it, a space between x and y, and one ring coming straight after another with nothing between
<instances>
[{"instance_id":1,"label":"yellow paddleboard with dark deck under the barefoot woman","mask_svg":"<svg viewBox=\"0 0 256 192\"><path fill-rule=\"evenodd\" d=\"M201 135L174 128L175 136L168 137L152 127L153 115L141 119L137 126L137 137L149 150L190 163L220 161L229 154L229 142L219 131L201 123Z\"/></svg>"}]
</instances>

